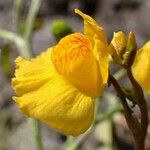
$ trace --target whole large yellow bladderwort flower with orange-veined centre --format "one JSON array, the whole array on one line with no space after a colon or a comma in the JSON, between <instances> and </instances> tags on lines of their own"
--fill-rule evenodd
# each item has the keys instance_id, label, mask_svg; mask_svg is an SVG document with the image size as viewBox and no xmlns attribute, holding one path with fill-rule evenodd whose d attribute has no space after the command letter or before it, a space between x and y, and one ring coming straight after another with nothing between
<instances>
[{"instance_id":1,"label":"whole large yellow bladderwort flower with orange-veined centre","mask_svg":"<svg viewBox=\"0 0 150 150\"><path fill-rule=\"evenodd\" d=\"M84 19L84 34L74 33L31 60L16 59L12 87L21 111L68 135L85 132L93 122L94 97L108 78L105 32Z\"/></svg>"}]
</instances>

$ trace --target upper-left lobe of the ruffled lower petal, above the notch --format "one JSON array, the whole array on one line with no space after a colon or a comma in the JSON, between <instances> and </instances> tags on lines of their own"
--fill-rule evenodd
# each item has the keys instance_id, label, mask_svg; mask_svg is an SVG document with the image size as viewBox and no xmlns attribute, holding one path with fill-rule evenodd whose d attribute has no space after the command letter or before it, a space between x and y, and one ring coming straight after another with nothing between
<instances>
[{"instance_id":1,"label":"upper-left lobe of the ruffled lower petal, above the notch","mask_svg":"<svg viewBox=\"0 0 150 150\"><path fill-rule=\"evenodd\" d=\"M12 79L12 87L18 95L37 90L55 75L51 69L50 59L51 49L31 61L22 57L16 59L17 68L15 78Z\"/></svg>"}]
</instances>

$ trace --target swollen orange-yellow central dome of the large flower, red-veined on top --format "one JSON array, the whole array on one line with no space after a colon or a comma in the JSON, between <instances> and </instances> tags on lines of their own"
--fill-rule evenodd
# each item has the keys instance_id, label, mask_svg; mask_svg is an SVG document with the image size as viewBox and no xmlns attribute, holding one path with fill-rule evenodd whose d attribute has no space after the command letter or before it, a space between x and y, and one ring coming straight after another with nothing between
<instances>
[{"instance_id":1,"label":"swollen orange-yellow central dome of the large flower, red-veined on top","mask_svg":"<svg viewBox=\"0 0 150 150\"><path fill-rule=\"evenodd\" d=\"M70 34L54 47L52 60L57 71L88 96L101 94L103 82L89 39L80 33Z\"/></svg>"}]
</instances>

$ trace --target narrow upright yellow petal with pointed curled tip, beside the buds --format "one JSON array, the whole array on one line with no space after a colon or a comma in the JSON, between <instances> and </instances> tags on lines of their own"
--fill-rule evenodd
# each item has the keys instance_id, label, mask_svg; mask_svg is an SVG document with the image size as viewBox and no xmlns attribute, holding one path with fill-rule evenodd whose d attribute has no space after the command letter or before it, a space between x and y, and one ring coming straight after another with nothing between
<instances>
[{"instance_id":1,"label":"narrow upright yellow petal with pointed curled tip, beside the buds","mask_svg":"<svg viewBox=\"0 0 150 150\"><path fill-rule=\"evenodd\" d=\"M75 13L84 19L84 34L92 42L93 53L99 62L103 84L106 84L108 80L108 44L106 34L93 18L78 9L75 9Z\"/></svg>"}]
</instances>

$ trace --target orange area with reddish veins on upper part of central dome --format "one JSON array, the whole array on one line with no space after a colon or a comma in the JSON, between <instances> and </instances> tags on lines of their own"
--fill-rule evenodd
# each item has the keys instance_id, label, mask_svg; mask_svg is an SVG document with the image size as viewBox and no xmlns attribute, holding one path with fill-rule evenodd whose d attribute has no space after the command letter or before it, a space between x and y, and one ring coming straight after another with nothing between
<instances>
[{"instance_id":1,"label":"orange area with reddish veins on upper part of central dome","mask_svg":"<svg viewBox=\"0 0 150 150\"><path fill-rule=\"evenodd\" d=\"M52 60L61 74L64 74L67 64L79 57L85 57L91 53L91 43L85 35L74 33L64 37L54 47Z\"/></svg>"}]
</instances>

